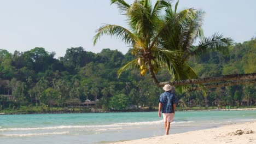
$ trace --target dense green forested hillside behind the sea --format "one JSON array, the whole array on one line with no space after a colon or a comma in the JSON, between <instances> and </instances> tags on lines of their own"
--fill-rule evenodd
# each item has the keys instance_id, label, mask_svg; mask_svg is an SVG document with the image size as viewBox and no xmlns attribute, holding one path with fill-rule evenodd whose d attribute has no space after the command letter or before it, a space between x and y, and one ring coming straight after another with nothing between
<instances>
[{"instance_id":1,"label":"dense green forested hillside behind the sea","mask_svg":"<svg viewBox=\"0 0 256 144\"><path fill-rule=\"evenodd\" d=\"M189 65L200 77L256 73L256 39L229 50L230 55L211 52L191 57ZM123 55L118 50L92 53L72 47L64 57L54 56L42 47L14 53L0 50L0 112L21 107L23 112L89 112L93 107L101 111L138 110L158 105L162 89L149 75L141 77L139 70L126 70L118 79L118 69L135 58L131 50ZM167 70L159 71L156 77L171 79ZM178 106L255 106L255 89L255 84L212 88L206 98L200 91L177 93ZM87 107L86 99L98 100L95 106Z\"/></svg>"}]
</instances>

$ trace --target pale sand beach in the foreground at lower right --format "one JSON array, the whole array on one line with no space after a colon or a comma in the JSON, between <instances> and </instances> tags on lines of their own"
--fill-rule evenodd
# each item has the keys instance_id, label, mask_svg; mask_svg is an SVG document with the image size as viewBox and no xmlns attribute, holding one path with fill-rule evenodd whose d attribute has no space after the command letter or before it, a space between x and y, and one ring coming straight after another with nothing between
<instances>
[{"instance_id":1,"label":"pale sand beach in the foreground at lower right","mask_svg":"<svg viewBox=\"0 0 256 144\"><path fill-rule=\"evenodd\" d=\"M187 133L150 137L146 139L115 142L115 144L187 144L187 143L256 143L256 121L243 124L230 124L219 128L189 131Z\"/></svg>"}]
</instances>

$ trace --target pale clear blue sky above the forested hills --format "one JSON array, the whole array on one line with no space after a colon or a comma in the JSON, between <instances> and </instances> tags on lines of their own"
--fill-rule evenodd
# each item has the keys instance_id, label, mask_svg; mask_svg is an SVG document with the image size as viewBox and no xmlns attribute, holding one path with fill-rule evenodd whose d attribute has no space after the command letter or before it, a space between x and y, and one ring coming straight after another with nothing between
<instances>
[{"instance_id":1,"label":"pale clear blue sky above the forested hills","mask_svg":"<svg viewBox=\"0 0 256 144\"><path fill-rule=\"evenodd\" d=\"M179 1L178 9L192 7L206 12L206 36L219 32L237 43L256 36L255 0ZM104 23L126 27L125 16L110 0L0 0L0 49L13 53L44 47L56 52L56 58L78 46L95 53L109 48L125 54L129 47L108 36L92 45L95 30Z\"/></svg>"}]
</instances>

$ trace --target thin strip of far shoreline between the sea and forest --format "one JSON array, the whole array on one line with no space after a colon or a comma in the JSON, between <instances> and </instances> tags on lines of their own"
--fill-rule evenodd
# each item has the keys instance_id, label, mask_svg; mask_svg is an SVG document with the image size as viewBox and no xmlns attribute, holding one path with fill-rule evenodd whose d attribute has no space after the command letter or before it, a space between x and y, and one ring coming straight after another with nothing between
<instances>
[{"instance_id":1,"label":"thin strip of far shoreline between the sea and forest","mask_svg":"<svg viewBox=\"0 0 256 144\"><path fill-rule=\"evenodd\" d=\"M208 109L208 110L177 110L177 111L241 111L241 110L256 110L256 108L242 109ZM138 111L106 111L106 112L74 112L74 111L51 111L51 112L19 112L19 113L4 113L0 115L34 115L34 114L61 114L61 113L117 113L117 112L154 112L156 110L138 110ZM156 111L157 112L157 111Z\"/></svg>"}]
</instances>

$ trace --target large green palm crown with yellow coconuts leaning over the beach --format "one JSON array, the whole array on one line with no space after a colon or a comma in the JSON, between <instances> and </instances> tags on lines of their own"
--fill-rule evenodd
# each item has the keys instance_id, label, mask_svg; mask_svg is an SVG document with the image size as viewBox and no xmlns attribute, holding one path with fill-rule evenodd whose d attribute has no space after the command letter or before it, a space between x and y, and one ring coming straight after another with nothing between
<instances>
[{"instance_id":1,"label":"large green palm crown with yellow coconuts leaning over the beach","mask_svg":"<svg viewBox=\"0 0 256 144\"><path fill-rule=\"evenodd\" d=\"M190 8L178 12L178 2L173 8L167 0L156 1L154 6L150 0L137 0L132 4L111 0L111 4L117 4L120 12L127 16L130 29L104 25L97 29L94 44L103 34L108 34L131 45L136 58L120 68L119 75L123 70L140 68L142 76L149 71L155 85L160 86L155 74L167 68L172 81L196 79L198 76L187 63L189 57L200 57L210 50L227 52L226 48L231 45L231 39L222 34L204 37L201 26L205 13L202 10ZM193 46L196 38L201 41Z\"/></svg>"}]
</instances>

